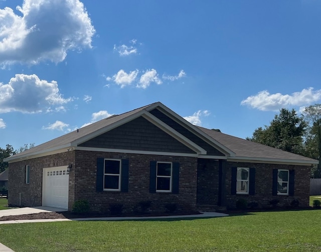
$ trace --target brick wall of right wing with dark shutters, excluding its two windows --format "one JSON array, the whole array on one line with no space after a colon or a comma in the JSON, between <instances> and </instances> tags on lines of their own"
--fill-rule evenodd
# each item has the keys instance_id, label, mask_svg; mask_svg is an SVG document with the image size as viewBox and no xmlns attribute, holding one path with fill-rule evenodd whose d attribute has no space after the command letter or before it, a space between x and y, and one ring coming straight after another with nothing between
<instances>
[{"instance_id":1,"label":"brick wall of right wing with dark shutters, excluding its two windows","mask_svg":"<svg viewBox=\"0 0 321 252\"><path fill-rule=\"evenodd\" d=\"M255 168L255 194L231 194L232 167ZM273 169L288 169L295 171L294 195L273 195ZM236 200L245 198L247 202L256 201L259 207L268 207L269 201L279 199L279 205L284 206L291 203L293 199L298 199L300 206L309 205L309 185L310 185L310 166L270 164L270 163L246 163L246 162L227 162L226 165L226 206L235 207Z\"/></svg>"}]
</instances>

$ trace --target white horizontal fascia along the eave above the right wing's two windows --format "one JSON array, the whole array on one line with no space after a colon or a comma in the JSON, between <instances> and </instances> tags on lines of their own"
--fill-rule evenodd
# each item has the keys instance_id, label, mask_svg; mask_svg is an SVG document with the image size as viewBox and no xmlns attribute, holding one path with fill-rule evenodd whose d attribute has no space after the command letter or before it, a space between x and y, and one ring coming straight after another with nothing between
<instances>
[{"instance_id":1,"label":"white horizontal fascia along the eave above the right wing's two windows","mask_svg":"<svg viewBox=\"0 0 321 252\"><path fill-rule=\"evenodd\" d=\"M247 157L247 156L233 156L228 157L229 162L256 162L256 163L274 163L274 164L297 164L308 165L317 164L317 160L297 160L297 159L282 159L282 158L267 158L267 157Z\"/></svg>"}]
</instances>

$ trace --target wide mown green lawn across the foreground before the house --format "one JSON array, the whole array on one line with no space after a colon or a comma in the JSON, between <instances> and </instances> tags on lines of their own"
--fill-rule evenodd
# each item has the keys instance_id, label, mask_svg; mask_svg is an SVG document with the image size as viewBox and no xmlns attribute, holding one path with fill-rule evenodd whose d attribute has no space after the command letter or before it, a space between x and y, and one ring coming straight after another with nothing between
<instances>
[{"instance_id":1,"label":"wide mown green lawn across the foreground before the house","mask_svg":"<svg viewBox=\"0 0 321 252\"><path fill-rule=\"evenodd\" d=\"M319 251L321 210L217 218L0 225L0 242L28 251Z\"/></svg>"}]
</instances>

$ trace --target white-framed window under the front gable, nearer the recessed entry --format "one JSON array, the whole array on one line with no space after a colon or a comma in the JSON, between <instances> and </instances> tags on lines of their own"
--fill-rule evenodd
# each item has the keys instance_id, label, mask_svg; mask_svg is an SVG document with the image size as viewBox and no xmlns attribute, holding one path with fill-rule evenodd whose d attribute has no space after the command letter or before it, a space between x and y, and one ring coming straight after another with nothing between
<instances>
[{"instance_id":1,"label":"white-framed window under the front gable, nearer the recessed entry","mask_svg":"<svg viewBox=\"0 0 321 252\"><path fill-rule=\"evenodd\" d=\"M172 191L172 162L157 162L156 191Z\"/></svg>"}]
</instances>

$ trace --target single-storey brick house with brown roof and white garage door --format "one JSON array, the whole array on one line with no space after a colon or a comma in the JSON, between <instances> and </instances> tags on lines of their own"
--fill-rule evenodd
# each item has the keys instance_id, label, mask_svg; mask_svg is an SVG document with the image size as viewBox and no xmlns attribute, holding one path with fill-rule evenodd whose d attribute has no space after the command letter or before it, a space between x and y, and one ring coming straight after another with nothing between
<instances>
[{"instance_id":1,"label":"single-storey brick house with brown roof and white garage door","mask_svg":"<svg viewBox=\"0 0 321 252\"><path fill-rule=\"evenodd\" d=\"M153 210L309 203L317 160L192 125L160 102L112 115L5 159L9 204L93 210L141 200Z\"/></svg>"}]
</instances>

